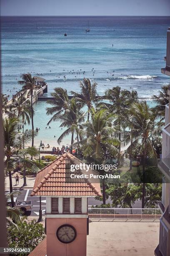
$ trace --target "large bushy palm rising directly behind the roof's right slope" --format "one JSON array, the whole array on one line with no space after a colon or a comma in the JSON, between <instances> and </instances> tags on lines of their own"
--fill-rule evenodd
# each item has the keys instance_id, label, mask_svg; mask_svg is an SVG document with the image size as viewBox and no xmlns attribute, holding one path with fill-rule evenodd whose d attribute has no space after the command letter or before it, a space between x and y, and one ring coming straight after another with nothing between
<instances>
[{"instance_id":1,"label":"large bushy palm rising directly behind the roof's right slope","mask_svg":"<svg viewBox=\"0 0 170 256\"><path fill-rule=\"evenodd\" d=\"M78 145L81 145L84 156L90 156L95 161L103 162L108 158L116 158L120 151L117 149L120 141L114 137L117 132L113 125L115 115L107 110L90 110L91 120L85 123L84 137ZM102 179L103 204L106 202L105 179Z\"/></svg>"}]
</instances>

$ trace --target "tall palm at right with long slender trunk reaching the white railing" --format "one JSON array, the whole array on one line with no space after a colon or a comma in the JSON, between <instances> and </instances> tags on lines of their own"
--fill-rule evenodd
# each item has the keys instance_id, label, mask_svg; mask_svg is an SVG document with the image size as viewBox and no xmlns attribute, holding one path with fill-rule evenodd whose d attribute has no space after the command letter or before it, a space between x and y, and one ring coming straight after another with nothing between
<instances>
[{"instance_id":1,"label":"tall palm at right with long slender trunk reaching the white railing","mask_svg":"<svg viewBox=\"0 0 170 256\"><path fill-rule=\"evenodd\" d=\"M124 146L135 147L140 143L143 155L143 175L145 173L146 157L157 158L153 147L152 137L156 131L157 113L147 105L146 101L133 103L127 110L129 119L126 120L130 131L122 132ZM143 183L142 208L145 207L145 183Z\"/></svg>"}]
</instances>

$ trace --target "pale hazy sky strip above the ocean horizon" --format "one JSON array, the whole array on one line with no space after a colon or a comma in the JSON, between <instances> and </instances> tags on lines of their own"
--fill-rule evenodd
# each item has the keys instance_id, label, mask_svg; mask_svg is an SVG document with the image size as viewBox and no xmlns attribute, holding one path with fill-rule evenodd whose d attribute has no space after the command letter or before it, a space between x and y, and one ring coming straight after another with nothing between
<instances>
[{"instance_id":1,"label":"pale hazy sky strip above the ocean horizon","mask_svg":"<svg viewBox=\"0 0 170 256\"><path fill-rule=\"evenodd\" d=\"M170 0L0 0L0 14L169 16Z\"/></svg>"}]
</instances>

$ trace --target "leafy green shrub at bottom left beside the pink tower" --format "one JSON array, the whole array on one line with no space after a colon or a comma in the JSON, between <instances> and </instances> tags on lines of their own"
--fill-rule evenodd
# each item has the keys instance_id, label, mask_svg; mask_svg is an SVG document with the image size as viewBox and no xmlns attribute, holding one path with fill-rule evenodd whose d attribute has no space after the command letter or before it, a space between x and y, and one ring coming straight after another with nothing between
<instances>
[{"instance_id":1,"label":"leafy green shrub at bottom left beside the pink tower","mask_svg":"<svg viewBox=\"0 0 170 256\"><path fill-rule=\"evenodd\" d=\"M45 228L36 220L28 222L27 217L21 218L14 226L7 227L7 244L10 248L30 248L33 250L42 239L45 238ZM26 256L29 253L11 254L16 256Z\"/></svg>"}]
</instances>

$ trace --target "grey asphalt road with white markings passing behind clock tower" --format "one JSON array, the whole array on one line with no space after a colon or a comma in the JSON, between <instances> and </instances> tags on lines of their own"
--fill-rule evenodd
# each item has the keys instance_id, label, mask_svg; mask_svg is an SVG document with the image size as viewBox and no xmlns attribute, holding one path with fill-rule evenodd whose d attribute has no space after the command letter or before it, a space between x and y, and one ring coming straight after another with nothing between
<instances>
[{"instance_id":1,"label":"grey asphalt road with white markings passing behind clock tower","mask_svg":"<svg viewBox=\"0 0 170 256\"><path fill-rule=\"evenodd\" d=\"M17 190L17 189L15 189ZM5 191L7 193L9 191ZM17 199L18 201L32 201L32 210L27 211L28 216L39 216L39 209L40 209L40 197L31 197L30 194L32 192L32 189L21 189L19 191L19 195L15 196L14 198ZM107 200L106 203L111 203L111 200ZM88 206L90 207L91 205L101 205L102 201L95 200L94 197L88 197ZM45 215L45 210L46 210L46 197L41 197L41 205L42 205L42 216ZM133 205L133 208L141 208L141 202L136 201L135 204Z\"/></svg>"}]
</instances>

